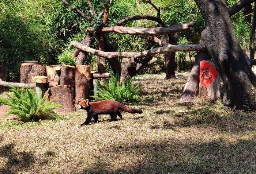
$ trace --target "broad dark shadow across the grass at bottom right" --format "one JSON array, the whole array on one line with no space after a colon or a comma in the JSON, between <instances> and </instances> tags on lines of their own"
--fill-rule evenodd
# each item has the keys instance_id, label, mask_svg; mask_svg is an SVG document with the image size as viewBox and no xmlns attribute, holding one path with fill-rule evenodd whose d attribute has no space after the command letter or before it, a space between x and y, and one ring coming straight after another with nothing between
<instances>
[{"instance_id":1,"label":"broad dark shadow across the grass at bottom right","mask_svg":"<svg viewBox=\"0 0 256 174\"><path fill-rule=\"evenodd\" d=\"M78 173L255 173L255 146L255 140L245 139L128 143L106 148L95 167ZM124 158L125 163L118 161Z\"/></svg>"}]
</instances>

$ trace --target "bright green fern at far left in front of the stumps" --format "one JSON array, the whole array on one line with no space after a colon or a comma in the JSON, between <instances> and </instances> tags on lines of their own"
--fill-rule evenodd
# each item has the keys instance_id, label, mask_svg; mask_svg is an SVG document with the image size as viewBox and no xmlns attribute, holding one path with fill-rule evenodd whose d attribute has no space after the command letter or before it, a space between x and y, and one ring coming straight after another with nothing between
<instances>
[{"instance_id":1,"label":"bright green fern at far left in front of the stumps","mask_svg":"<svg viewBox=\"0 0 256 174\"><path fill-rule=\"evenodd\" d=\"M18 115L22 121L31 121L55 117L57 114L54 108L61 107L60 104L53 104L53 100L48 101L47 97L37 97L33 89L19 89L8 86L10 93L6 93L8 98L0 98L0 103L9 105L11 109L5 115Z\"/></svg>"}]
</instances>

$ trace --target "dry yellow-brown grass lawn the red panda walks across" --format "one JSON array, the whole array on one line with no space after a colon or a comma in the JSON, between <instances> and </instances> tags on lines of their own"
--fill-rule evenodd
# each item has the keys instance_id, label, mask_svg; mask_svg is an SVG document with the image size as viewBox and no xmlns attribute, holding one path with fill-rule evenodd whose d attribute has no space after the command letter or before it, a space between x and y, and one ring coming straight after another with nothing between
<instances>
[{"instance_id":1,"label":"dry yellow-brown grass lawn the red panda walks across","mask_svg":"<svg viewBox=\"0 0 256 174\"><path fill-rule=\"evenodd\" d=\"M43 123L0 122L0 173L256 173L255 113L181 105L182 79L144 76L143 114L80 127L84 111Z\"/></svg>"}]
</instances>

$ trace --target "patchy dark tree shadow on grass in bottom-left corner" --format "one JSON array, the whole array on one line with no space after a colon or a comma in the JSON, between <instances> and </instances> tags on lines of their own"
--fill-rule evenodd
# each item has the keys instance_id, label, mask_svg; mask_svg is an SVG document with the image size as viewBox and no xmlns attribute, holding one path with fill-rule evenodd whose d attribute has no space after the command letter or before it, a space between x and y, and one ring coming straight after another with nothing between
<instances>
[{"instance_id":1,"label":"patchy dark tree shadow on grass in bottom-left corner","mask_svg":"<svg viewBox=\"0 0 256 174\"><path fill-rule=\"evenodd\" d=\"M4 140L4 139L2 139ZM0 140L1 141L1 140ZM43 156L55 156L52 151L46 152ZM16 174L21 171L26 172L34 167L37 163L39 166L44 166L49 162L49 159L37 159L33 152L17 151L15 144L10 143L0 147L0 158L7 159L6 164L0 168L1 174Z\"/></svg>"}]
</instances>

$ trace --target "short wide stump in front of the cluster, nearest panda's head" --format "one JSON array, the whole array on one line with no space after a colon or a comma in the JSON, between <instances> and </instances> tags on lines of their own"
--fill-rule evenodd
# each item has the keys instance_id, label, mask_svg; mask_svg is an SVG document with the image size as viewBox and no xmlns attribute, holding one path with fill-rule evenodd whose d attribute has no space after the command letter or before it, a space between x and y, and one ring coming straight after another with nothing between
<instances>
[{"instance_id":1,"label":"short wide stump in front of the cluster, nearest panda's head","mask_svg":"<svg viewBox=\"0 0 256 174\"><path fill-rule=\"evenodd\" d=\"M69 85L60 85L50 88L50 99L55 98L54 103L61 104L60 112L75 112L76 108L73 102L71 88Z\"/></svg>"}]
</instances>

